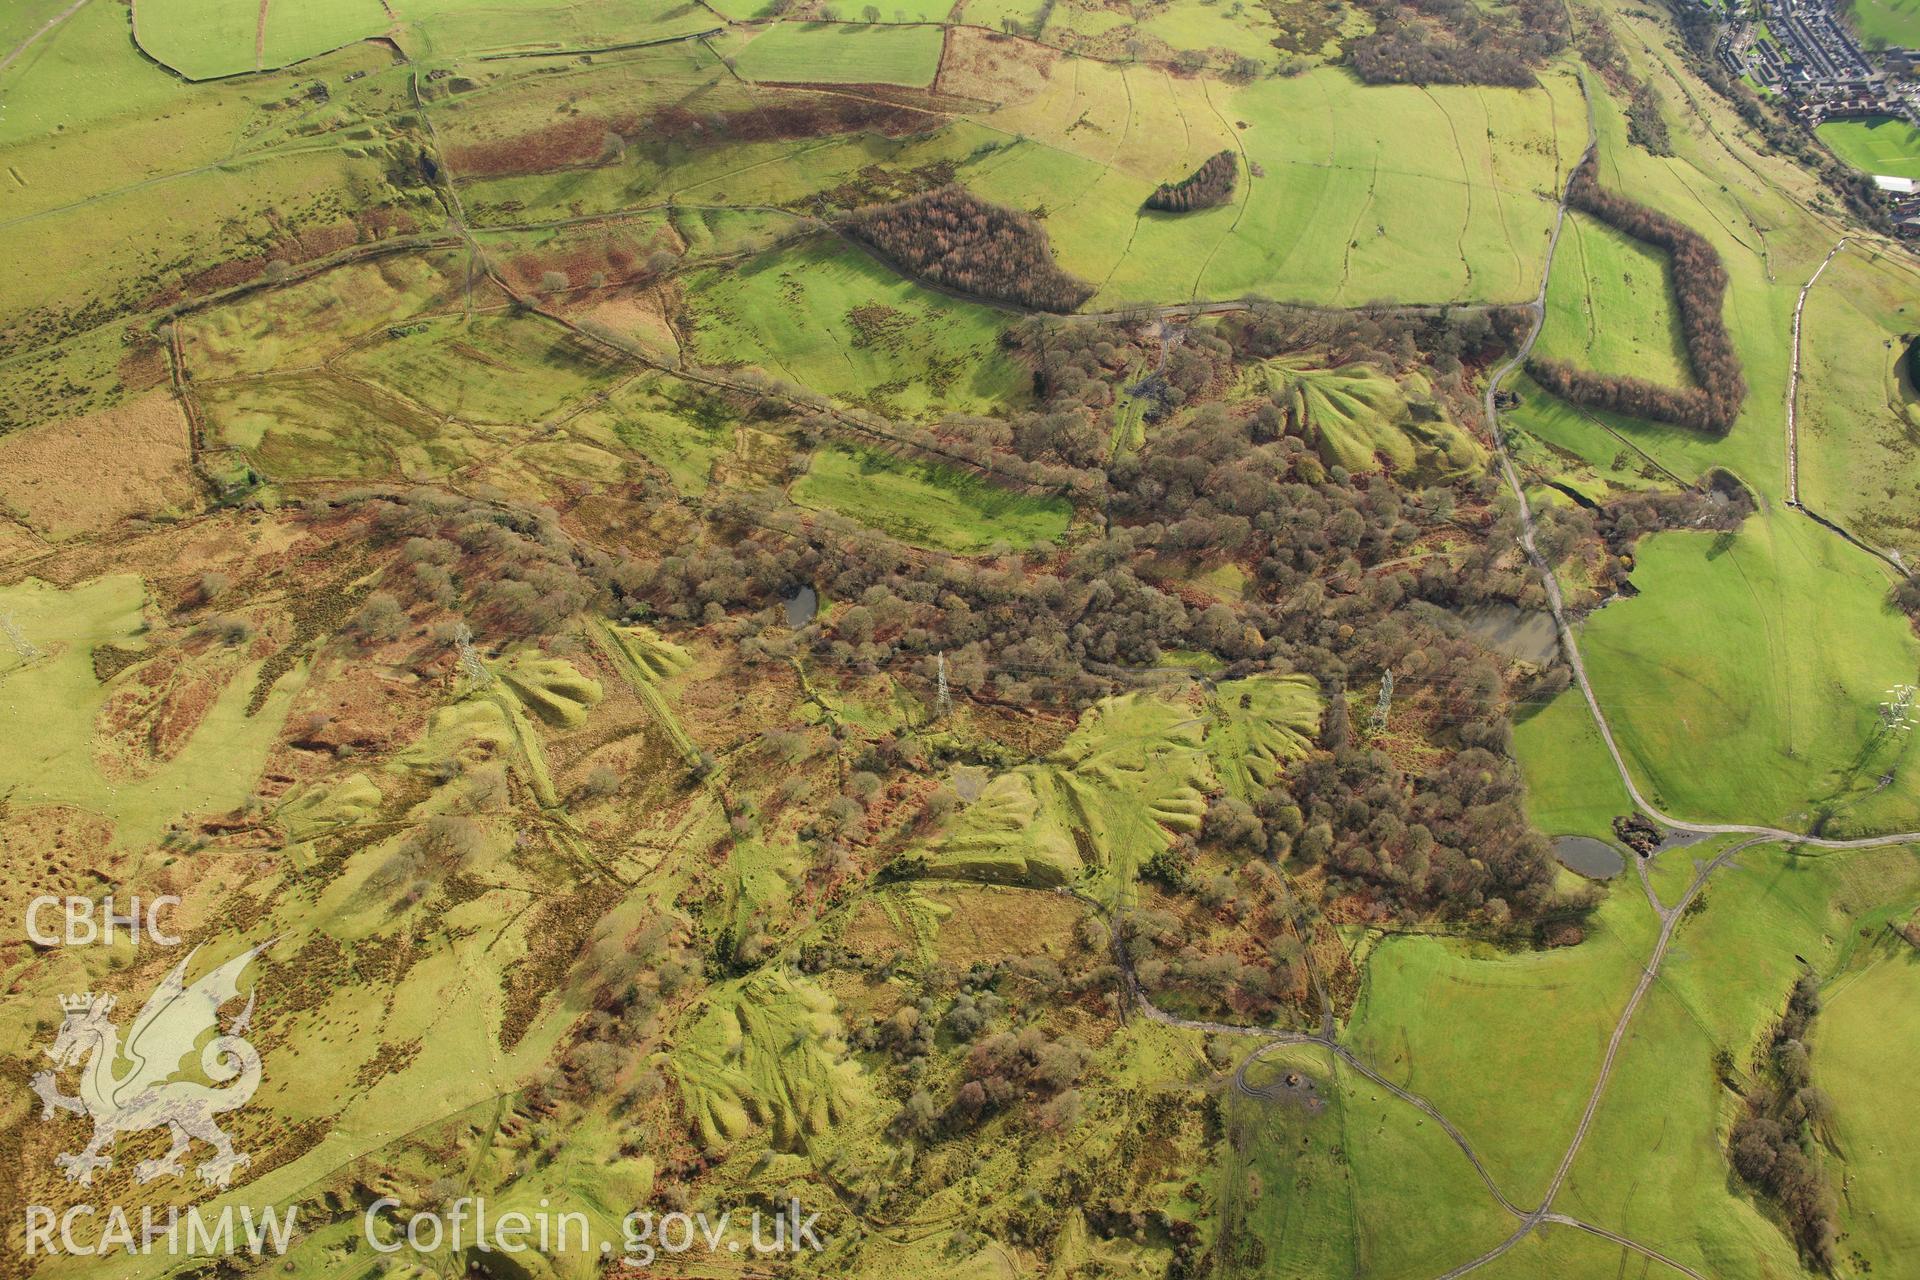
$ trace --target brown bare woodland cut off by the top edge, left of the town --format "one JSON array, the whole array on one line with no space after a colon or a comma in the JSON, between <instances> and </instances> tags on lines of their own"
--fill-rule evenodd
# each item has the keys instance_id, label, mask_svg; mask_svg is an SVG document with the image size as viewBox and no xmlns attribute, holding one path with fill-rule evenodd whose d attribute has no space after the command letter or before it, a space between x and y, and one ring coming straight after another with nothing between
<instances>
[{"instance_id":1,"label":"brown bare woodland cut off by the top edge, left of the town","mask_svg":"<svg viewBox=\"0 0 1920 1280\"><path fill-rule=\"evenodd\" d=\"M1572 31L1557 0L1519 0L1492 15L1469 0L1365 0L1373 35L1348 61L1369 84L1501 84L1532 88L1534 71Z\"/></svg>"}]
</instances>

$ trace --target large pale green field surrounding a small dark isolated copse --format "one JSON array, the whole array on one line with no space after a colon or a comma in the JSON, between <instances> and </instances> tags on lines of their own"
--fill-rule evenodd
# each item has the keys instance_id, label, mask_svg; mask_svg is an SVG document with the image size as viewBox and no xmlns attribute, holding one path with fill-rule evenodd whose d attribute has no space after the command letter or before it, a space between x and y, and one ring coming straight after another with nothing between
<instances>
[{"instance_id":1,"label":"large pale green field surrounding a small dark isolated copse","mask_svg":"<svg viewBox=\"0 0 1920 1280\"><path fill-rule=\"evenodd\" d=\"M1035 100L985 117L1027 140L964 180L1046 209L1060 265L1100 284L1091 309L1242 294L1517 301L1538 286L1551 194L1578 155L1576 94L1565 77L1540 90L1363 86L1338 67L1227 88L1071 61ZM1142 211L1223 146L1242 154L1229 205Z\"/></svg>"}]
</instances>

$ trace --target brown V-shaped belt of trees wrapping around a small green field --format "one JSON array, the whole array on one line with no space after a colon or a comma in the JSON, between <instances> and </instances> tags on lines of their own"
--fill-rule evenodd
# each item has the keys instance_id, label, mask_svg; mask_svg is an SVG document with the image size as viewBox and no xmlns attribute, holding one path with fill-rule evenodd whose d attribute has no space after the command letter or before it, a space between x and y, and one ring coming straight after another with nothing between
<instances>
[{"instance_id":1,"label":"brown V-shaped belt of trees wrapping around a small green field","mask_svg":"<svg viewBox=\"0 0 1920 1280\"><path fill-rule=\"evenodd\" d=\"M1720 313L1726 299L1726 267L1720 263L1720 251L1686 223L1605 190L1596 175L1597 163L1588 155L1574 171L1569 200L1572 207L1592 213L1615 230L1667 249L1680 334L1697 386L1663 386L1544 357L1530 359L1526 372L1546 390L1576 405L1724 436L1740 416L1747 380Z\"/></svg>"}]
</instances>

